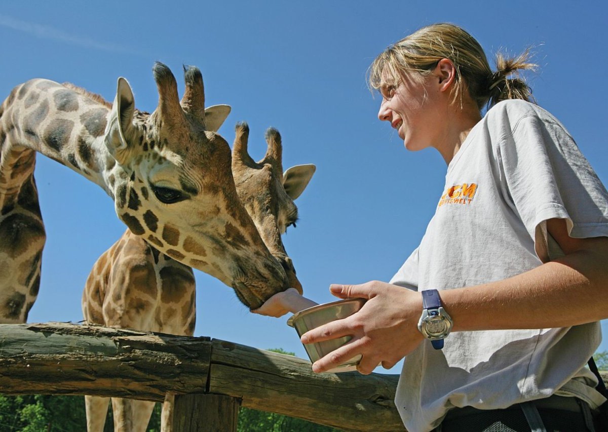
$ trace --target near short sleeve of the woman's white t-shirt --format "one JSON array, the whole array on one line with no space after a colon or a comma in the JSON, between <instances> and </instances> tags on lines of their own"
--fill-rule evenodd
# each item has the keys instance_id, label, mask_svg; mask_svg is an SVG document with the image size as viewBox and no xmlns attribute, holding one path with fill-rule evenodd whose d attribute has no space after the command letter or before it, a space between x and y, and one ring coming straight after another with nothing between
<instances>
[{"instance_id":1,"label":"near short sleeve of the woman's white t-shirt","mask_svg":"<svg viewBox=\"0 0 608 432\"><path fill-rule=\"evenodd\" d=\"M541 261L555 258L548 219L565 219L574 238L608 236L606 188L557 120L538 112L522 115L499 140L498 154L505 199Z\"/></svg>"}]
</instances>

